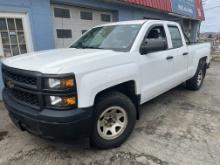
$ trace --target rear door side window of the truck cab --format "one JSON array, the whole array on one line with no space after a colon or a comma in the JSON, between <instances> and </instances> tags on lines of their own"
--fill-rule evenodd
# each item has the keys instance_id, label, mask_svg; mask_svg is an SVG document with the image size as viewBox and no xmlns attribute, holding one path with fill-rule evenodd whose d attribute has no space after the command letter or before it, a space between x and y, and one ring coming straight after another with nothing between
<instances>
[{"instance_id":1,"label":"rear door side window of the truck cab","mask_svg":"<svg viewBox=\"0 0 220 165\"><path fill-rule=\"evenodd\" d=\"M180 34L180 31L178 29L178 27L176 26L168 26L169 31L170 31L170 35L171 35L171 40L173 43L173 48L180 48L183 46L183 42L182 42L182 37Z\"/></svg>"}]
</instances>

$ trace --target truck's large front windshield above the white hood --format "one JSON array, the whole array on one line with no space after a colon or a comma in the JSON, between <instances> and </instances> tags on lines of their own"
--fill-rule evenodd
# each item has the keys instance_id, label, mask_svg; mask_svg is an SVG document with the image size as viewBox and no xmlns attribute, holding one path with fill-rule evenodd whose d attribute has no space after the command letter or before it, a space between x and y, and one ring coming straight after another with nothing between
<instances>
[{"instance_id":1,"label":"truck's large front windshield above the white hood","mask_svg":"<svg viewBox=\"0 0 220 165\"><path fill-rule=\"evenodd\" d=\"M129 51L140 28L140 24L97 27L83 35L71 48Z\"/></svg>"}]
</instances>

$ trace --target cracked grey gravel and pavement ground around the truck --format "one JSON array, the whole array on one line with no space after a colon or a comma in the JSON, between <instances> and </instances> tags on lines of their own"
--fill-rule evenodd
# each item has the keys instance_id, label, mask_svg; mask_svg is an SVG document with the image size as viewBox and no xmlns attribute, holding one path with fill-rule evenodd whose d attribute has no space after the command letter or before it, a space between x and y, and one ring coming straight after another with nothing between
<instances>
[{"instance_id":1,"label":"cracked grey gravel and pavement ground around the truck","mask_svg":"<svg viewBox=\"0 0 220 165\"><path fill-rule=\"evenodd\" d=\"M198 92L177 87L142 106L127 142L99 151L86 141L61 144L21 132L0 103L0 165L220 164L220 63Z\"/></svg>"}]
</instances>

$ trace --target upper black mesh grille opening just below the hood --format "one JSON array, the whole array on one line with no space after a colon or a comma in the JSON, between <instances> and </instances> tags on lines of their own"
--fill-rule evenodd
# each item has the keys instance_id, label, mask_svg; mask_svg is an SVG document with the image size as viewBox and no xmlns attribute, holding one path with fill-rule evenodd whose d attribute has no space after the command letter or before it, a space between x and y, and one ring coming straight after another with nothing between
<instances>
[{"instance_id":1,"label":"upper black mesh grille opening just below the hood","mask_svg":"<svg viewBox=\"0 0 220 165\"><path fill-rule=\"evenodd\" d=\"M13 73L13 72L7 71L5 69L3 69L3 77L5 77L6 79L10 79L12 81L24 83L26 85L37 86L37 78L36 77Z\"/></svg>"}]
</instances>

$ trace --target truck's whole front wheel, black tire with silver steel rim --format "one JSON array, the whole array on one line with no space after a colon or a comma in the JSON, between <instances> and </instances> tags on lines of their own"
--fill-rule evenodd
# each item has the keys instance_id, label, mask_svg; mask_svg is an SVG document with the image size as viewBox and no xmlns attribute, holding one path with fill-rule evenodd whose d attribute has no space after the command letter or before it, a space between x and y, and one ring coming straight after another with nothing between
<instances>
[{"instance_id":1,"label":"truck's whole front wheel, black tire with silver steel rim","mask_svg":"<svg viewBox=\"0 0 220 165\"><path fill-rule=\"evenodd\" d=\"M91 144L100 149L119 147L131 134L136 108L124 94L110 92L96 101Z\"/></svg>"}]
</instances>

